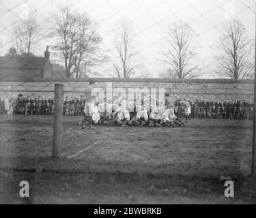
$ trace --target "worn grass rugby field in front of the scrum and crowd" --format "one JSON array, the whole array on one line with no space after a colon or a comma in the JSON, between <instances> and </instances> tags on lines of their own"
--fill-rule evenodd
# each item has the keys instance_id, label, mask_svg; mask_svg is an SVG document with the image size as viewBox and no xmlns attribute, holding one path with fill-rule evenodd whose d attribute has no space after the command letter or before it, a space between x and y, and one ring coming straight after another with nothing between
<instances>
[{"instance_id":1,"label":"worn grass rugby field in front of the scrum and crowd","mask_svg":"<svg viewBox=\"0 0 256 218\"><path fill-rule=\"evenodd\" d=\"M51 158L53 116L0 117L0 203L256 203L252 121L191 120L186 127L76 125L64 117L63 155ZM231 176L225 198L220 176ZM18 196L22 180L31 198Z\"/></svg>"}]
</instances>

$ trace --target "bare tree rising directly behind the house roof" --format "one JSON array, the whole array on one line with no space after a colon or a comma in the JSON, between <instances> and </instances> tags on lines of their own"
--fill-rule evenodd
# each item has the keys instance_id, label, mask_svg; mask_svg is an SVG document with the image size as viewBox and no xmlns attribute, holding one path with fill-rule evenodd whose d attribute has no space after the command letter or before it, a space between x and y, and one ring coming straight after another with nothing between
<instances>
[{"instance_id":1,"label":"bare tree rising directly behind the house roof","mask_svg":"<svg viewBox=\"0 0 256 218\"><path fill-rule=\"evenodd\" d=\"M37 25L35 18L29 17L23 20L20 25L14 27L16 37L16 52L21 56L34 56L35 49L38 46L38 33L40 27Z\"/></svg>"}]
</instances>

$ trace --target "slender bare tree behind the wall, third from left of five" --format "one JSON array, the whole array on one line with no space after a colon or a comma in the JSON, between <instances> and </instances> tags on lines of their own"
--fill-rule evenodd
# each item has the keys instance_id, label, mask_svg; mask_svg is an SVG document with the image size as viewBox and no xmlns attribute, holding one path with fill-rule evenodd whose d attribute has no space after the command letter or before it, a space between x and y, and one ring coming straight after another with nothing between
<instances>
[{"instance_id":1,"label":"slender bare tree behind the wall, third from left of five","mask_svg":"<svg viewBox=\"0 0 256 218\"><path fill-rule=\"evenodd\" d=\"M117 57L112 61L114 77L130 78L141 67L133 37L134 34L128 20L121 20L114 40L115 51L117 52Z\"/></svg>"}]
</instances>

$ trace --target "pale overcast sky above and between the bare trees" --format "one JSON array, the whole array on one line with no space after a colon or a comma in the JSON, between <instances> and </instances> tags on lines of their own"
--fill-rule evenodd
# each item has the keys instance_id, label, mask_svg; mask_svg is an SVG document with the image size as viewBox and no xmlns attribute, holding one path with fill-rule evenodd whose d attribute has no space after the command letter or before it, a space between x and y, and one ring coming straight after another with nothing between
<instances>
[{"instance_id":1,"label":"pale overcast sky above and between the bare trees","mask_svg":"<svg viewBox=\"0 0 256 218\"><path fill-rule=\"evenodd\" d=\"M127 18L134 29L136 42L144 67L150 76L156 77L165 70L161 52L165 48L162 38L165 37L169 23L184 20L195 31L199 44L199 65L203 68L201 78L216 78L213 69L216 65L212 55L216 52L216 42L223 32L223 25L230 18L240 20L246 27L246 33L255 37L255 0L71 0L70 7L87 12L98 24L98 33L103 38L101 48L108 55L113 51L113 37L118 21ZM47 31L57 1L50 0L0 0L0 40L4 55L14 45L12 29L18 25L27 11L33 14L40 26ZM40 40L37 54L43 55L44 47L52 45L51 40ZM253 57L253 53L252 53ZM99 69L105 76L111 70L108 67ZM139 76L139 75L137 75Z\"/></svg>"}]
</instances>

